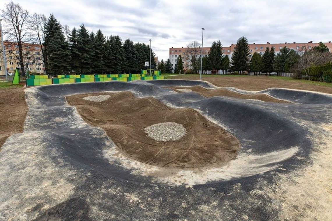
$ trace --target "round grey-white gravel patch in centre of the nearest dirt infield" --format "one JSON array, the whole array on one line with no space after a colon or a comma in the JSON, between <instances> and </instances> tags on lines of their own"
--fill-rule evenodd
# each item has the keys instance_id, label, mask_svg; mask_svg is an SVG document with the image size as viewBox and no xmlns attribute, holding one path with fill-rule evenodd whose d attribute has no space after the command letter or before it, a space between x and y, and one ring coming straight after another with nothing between
<instances>
[{"instance_id":1,"label":"round grey-white gravel patch in centre of the nearest dirt infield","mask_svg":"<svg viewBox=\"0 0 332 221\"><path fill-rule=\"evenodd\" d=\"M186 128L174 122L153 124L144 128L147 136L157 141L179 140L186 135Z\"/></svg>"}]
</instances>

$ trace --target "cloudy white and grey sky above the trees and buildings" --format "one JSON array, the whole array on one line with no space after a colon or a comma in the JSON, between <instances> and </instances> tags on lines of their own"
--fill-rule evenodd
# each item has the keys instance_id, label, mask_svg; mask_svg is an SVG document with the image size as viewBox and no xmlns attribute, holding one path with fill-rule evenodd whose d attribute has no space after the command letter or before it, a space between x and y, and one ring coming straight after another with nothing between
<instances>
[{"instance_id":1,"label":"cloudy white and grey sky above the trees and buildings","mask_svg":"<svg viewBox=\"0 0 332 221\"><path fill-rule=\"evenodd\" d=\"M9 2L0 0L2 6ZM149 43L161 59L170 47L202 40L224 46L246 36L249 43L332 40L332 1L312 0L14 0L29 12L53 13L70 28L82 23L91 31Z\"/></svg>"}]
</instances>

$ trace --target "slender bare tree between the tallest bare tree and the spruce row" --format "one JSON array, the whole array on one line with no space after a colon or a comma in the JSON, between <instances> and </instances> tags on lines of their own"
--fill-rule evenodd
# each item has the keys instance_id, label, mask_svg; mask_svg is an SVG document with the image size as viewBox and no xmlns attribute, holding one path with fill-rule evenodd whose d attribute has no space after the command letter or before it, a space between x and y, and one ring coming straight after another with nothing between
<instances>
[{"instance_id":1,"label":"slender bare tree between the tallest bare tree and the spruce row","mask_svg":"<svg viewBox=\"0 0 332 221\"><path fill-rule=\"evenodd\" d=\"M41 47L41 53L43 58L43 64L46 67L46 53L43 46L43 42L45 41L45 26L46 26L47 18L42 14L34 13L30 18L31 29L33 31L35 40L38 41Z\"/></svg>"}]
</instances>

